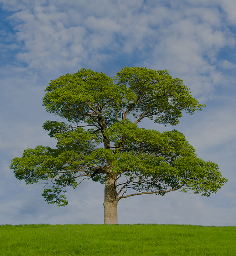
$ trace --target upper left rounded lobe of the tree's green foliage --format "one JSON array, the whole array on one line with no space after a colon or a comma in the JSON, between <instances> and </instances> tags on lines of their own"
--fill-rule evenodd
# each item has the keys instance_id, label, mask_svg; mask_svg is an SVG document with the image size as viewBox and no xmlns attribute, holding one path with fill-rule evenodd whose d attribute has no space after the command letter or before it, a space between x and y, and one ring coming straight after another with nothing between
<instances>
[{"instance_id":1,"label":"upper left rounded lobe of the tree's green foliage","mask_svg":"<svg viewBox=\"0 0 236 256\"><path fill-rule=\"evenodd\" d=\"M72 123L93 124L93 110L102 111L107 124L114 123L116 113L125 104L124 99L135 97L126 86L117 85L105 74L90 69L51 80L45 91L43 105L47 111Z\"/></svg>"}]
</instances>

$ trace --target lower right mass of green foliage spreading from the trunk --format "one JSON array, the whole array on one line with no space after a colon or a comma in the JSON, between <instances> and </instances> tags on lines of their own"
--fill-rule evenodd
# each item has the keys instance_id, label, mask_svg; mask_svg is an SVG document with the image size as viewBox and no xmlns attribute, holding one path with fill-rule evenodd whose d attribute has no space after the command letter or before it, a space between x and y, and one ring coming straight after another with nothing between
<instances>
[{"instance_id":1,"label":"lower right mass of green foliage spreading from the trunk","mask_svg":"<svg viewBox=\"0 0 236 256\"><path fill-rule=\"evenodd\" d=\"M128 177L122 182L126 188L160 195L189 189L208 196L226 182L217 164L198 158L177 130L160 133L125 120L114 124L106 135L115 145L112 170Z\"/></svg>"}]
</instances>

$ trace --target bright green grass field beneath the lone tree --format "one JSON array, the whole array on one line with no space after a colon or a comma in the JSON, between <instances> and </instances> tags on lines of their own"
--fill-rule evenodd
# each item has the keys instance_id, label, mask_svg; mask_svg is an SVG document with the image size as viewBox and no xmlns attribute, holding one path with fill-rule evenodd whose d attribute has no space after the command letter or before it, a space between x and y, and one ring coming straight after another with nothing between
<instances>
[{"instance_id":1,"label":"bright green grass field beneath the lone tree","mask_svg":"<svg viewBox=\"0 0 236 256\"><path fill-rule=\"evenodd\" d=\"M236 227L1 225L0 256L236 255Z\"/></svg>"}]
</instances>

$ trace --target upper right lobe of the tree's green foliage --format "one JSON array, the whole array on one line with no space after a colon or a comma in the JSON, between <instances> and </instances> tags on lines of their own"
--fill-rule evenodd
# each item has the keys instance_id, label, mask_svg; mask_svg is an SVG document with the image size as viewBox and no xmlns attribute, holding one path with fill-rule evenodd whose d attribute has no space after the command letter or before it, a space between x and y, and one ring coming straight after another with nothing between
<instances>
[{"instance_id":1,"label":"upper right lobe of the tree's green foliage","mask_svg":"<svg viewBox=\"0 0 236 256\"><path fill-rule=\"evenodd\" d=\"M176 125L181 111L192 115L205 106L190 95L183 80L172 78L167 70L126 67L117 73L116 82L135 94L131 112L136 118L147 112L150 119L156 116L157 123Z\"/></svg>"}]
</instances>

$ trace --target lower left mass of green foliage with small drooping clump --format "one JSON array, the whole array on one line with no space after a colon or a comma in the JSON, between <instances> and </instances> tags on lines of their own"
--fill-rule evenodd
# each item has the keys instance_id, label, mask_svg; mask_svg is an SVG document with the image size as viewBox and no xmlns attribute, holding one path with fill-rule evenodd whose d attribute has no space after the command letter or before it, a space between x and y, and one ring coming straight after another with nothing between
<instances>
[{"instance_id":1,"label":"lower left mass of green foliage with small drooping clump","mask_svg":"<svg viewBox=\"0 0 236 256\"><path fill-rule=\"evenodd\" d=\"M66 186L76 188L76 178L91 175L97 165L103 166L104 157L100 156L101 160L96 160L93 156L98 152L94 151L94 148L101 140L97 134L91 134L82 127L73 129L65 123L47 121L44 129L49 131L51 137L58 140L57 148L37 146L35 149L26 149L22 157L11 160L10 168L15 170L15 177L24 180L26 184L51 180L48 185L53 185L53 189L45 189L42 195L50 204L65 206L68 203L66 197L60 195L66 192L63 188ZM94 181L104 182L104 177L101 175L91 178Z\"/></svg>"}]
</instances>

